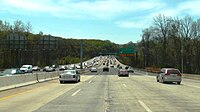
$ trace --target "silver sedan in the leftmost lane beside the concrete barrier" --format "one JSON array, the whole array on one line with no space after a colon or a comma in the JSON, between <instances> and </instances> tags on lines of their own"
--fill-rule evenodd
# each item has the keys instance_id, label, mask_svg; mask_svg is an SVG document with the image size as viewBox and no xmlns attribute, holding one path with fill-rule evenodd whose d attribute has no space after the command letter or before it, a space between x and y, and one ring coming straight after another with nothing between
<instances>
[{"instance_id":1,"label":"silver sedan in the leftmost lane beside the concrete barrier","mask_svg":"<svg viewBox=\"0 0 200 112\"><path fill-rule=\"evenodd\" d=\"M65 70L59 76L60 83L64 83L66 81L75 81L80 82L80 74L77 70Z\"/></svg>"}]
</instances>

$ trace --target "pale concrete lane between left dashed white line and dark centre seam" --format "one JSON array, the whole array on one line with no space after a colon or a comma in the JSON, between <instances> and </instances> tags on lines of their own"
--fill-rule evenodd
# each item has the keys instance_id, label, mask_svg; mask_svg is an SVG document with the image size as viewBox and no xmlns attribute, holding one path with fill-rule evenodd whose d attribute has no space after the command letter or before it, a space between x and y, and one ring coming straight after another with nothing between
<instances>
[{"instance_id":1,"label":"pale concrete lane between left dashed white line and dark centre seam","mask_svg":"<svg viewBox=\"0 0 200 112\"><path fill-rule=\"evenodd\" d=\"M77 86L35 112L104 112L108 76L96 77L92 83Z\"/></svg>"}]
</instances>

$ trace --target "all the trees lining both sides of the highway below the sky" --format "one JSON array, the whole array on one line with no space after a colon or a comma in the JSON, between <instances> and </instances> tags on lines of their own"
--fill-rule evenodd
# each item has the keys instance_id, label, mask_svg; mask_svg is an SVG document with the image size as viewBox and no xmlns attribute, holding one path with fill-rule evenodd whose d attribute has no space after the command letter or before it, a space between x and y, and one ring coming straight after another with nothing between
<instances>
[{"instance_id":1,"label":"all the trees lining both sides of the highway below the sky","mask_svg":"<svg viewBox=\"0 0 200 112\"><path fill-rule=\"evenodd\" d=\"M5 40L9 35L24 37L26 48L7 49ZM47 45L38 43L46 38L51 40ZM84 60L118 53L119 48L132 46L134 57L117 56L124 64L137 68L175 67L185 73L200 73L200 19L191 16L172 18L160 14L153 18L150 27L142 31L142 39L137 43L120 45L108 40L82 41ZM17 20L11 25L0 20L0 43L0 68L19 67L25 63L45 66L80 62L80 39L55 37L42 31L33 34L30 22Z\"/></svg>"}]
</instances>

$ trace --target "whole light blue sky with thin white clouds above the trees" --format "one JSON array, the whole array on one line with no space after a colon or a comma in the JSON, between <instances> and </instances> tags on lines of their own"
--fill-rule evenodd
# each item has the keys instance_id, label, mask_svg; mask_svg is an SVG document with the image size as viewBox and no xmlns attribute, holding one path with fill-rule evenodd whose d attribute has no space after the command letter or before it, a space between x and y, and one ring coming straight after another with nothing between
<instances>
[{"instance_id":1,"label":"whole light blue sky with thin white clouds above the trees","mask_svg":"<svg viewBox=\"0 0 200 112\"><path fill-rule=\"evenodd\" d=\"M0 0L0 20L30 22L33 33L76 39L141 41L159 14L200 17L200 0Z\"/></svg>"}]
</instances>

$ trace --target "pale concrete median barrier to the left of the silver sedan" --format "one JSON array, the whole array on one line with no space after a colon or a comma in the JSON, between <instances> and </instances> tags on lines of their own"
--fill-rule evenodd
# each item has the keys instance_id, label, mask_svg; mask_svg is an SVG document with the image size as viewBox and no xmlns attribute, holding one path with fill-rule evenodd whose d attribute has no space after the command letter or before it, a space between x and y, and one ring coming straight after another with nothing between
<instances>
[{"instance_id":1,"label":"pale concrete median barrier to the left of the silver sedan","mask_svg":"<svg viewBox=\"0 0 200 112\"><path fill-rule=\"evenodd\" d=\"M38 72L0 77L0 91L58 78L60 72Z\"/></svg>"}]
</instances>

